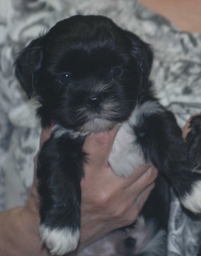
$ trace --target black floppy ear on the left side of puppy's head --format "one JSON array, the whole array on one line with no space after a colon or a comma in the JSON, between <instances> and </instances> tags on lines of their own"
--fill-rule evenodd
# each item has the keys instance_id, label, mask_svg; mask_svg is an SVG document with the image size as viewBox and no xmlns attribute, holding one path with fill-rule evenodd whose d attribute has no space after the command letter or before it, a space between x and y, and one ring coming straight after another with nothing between
<instances>
[{"instance_id":1,"label":"black floppy ear on the left side of puppy's head","mask_svg":"<svg viewBox=\"0 0 201 256\"><path fill-rule=\"evenodd\" d=\"M28 98L31 98L33 93L36 73L42 66L42 60L42 39L38 38L31 41L31 43L20 52L15 61L15 76L20 81Z\"/></svg>"}]
</instances>

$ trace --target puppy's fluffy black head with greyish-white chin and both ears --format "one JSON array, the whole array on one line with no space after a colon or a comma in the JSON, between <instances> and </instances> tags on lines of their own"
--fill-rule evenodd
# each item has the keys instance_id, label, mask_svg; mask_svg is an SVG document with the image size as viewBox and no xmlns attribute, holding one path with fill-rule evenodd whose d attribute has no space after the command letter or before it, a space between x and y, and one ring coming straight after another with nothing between
<instances>
[{"instance_id":1,"label":"puppy's fluffy black head with greyish-white chin and both ears","mask_svg":"<svg viewBox=\"0 0 201 256\"><path fill-rule=\"evenodd\" d=\"M149 96L152 52L109 18L77 15L57 23L19 55L15 74L41 107L43 125L95 132L129 117Z\"/></svg>"}]
</instances>

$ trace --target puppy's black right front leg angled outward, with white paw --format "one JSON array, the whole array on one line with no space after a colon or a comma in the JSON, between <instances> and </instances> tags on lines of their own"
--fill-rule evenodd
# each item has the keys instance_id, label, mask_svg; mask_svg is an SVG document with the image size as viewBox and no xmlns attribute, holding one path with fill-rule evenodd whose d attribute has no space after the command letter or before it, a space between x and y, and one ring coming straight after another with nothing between
<instances>
[{"instance_id":1,"label":"puppy's black right front leg angled outward, with white paw","mask_svg":"<svg viewBox=\"0 0 201 256\"><path fill-rule=\"evenodd\" d=\"M187 147L174 115L162 107L155 113L142 108L134 130L146 161L151 161L171 180L184 207L200 213L201 173L194 171L187 161Z\"/></svg>"}]
</instances>

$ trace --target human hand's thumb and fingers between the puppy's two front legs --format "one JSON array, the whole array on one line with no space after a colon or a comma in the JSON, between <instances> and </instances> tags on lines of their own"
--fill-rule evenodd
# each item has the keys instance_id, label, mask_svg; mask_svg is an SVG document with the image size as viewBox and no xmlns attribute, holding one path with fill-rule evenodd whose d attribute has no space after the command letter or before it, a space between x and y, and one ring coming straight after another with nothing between
<instances>
[{"instance_id":1,"label":"human hand's thumb and fingers between the puppy's two front legs","mask_svg":"<svg viewBox=\"0 0 201 256\"><path fill-rule=\"evenodd\" d=\"M158 170L150 165L135 170L129 178L117 177L108 164L117 130L89 136L88 153L81 181L81 241L79 249L119 227L132 224L154 188Z\"/></svg>"}]
</instances>

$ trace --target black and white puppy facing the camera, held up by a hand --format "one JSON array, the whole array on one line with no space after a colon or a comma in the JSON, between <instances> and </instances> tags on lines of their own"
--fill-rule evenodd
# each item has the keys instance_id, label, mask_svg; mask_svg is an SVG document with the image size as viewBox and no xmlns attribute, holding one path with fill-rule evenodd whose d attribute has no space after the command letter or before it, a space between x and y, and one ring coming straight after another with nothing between
<instances>
[{"instance_id":1,"label":"black and white puppy facing the camera, held up by a hand","mask_svg":"<svg viewBox=\"0 0 201 256\"><path fill-rule=\"evenodd\" d=\"M109 158L114 173L129 177L135 167L151 162L171 181L184 207L200 213L200 166L186 160L176 119L152 92L151 65L145 42L93 15L60 21L19 54L15 73L28 97L40 102L42 126L55 122L37 164L40 236L52 254L73 251L79 242L84 140L114 126L120 126ZM151 224L154 234L166 225L166 184L159 176L142 211L143 222L157 223Z\"/></svg>"}]
</instances>

